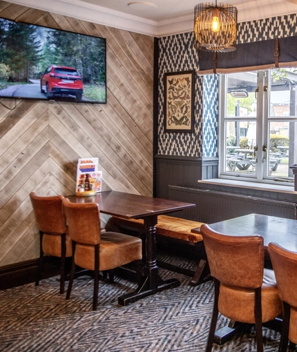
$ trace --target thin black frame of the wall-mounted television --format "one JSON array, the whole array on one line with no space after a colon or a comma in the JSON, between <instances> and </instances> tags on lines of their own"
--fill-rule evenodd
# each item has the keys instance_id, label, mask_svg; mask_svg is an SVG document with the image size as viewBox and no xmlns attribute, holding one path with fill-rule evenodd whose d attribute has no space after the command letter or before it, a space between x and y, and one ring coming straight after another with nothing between
<instances>
[{"instance_id":1,"label":"thin black frame of the wall-mounted television","mask_svg":"<svg viewBox=\"0 0 297 352\"><path fill-rule=\"evenodd\" d=\"M67 102L73 102L73 103L79 103L79 104L107 104L107 86L106 86L106 38L103 37L99 37L99 36L95 36L95 35L88 35L85 33L81 33L81 32L73 32L70 30L64 30L64 29L60 29L60 28L53 28L50 26L41 26L41 25L37 25L35 23L30 23L30 22L26 22L26 21L15 21L13 19L9 19L6 17L0 17L0 20L5 20L5 21L10 21L10 22L15 22L15 23L23 23L26 24L28 26L35 26L35 27L39 27L39 28L46 28L46 30L52 30L52 31L59 31L59 32L66 32L66 33L71 33L73 35L81 35L84 37L91 37L91 38L96 38L99 40L102 40L102 42L104 43L104 80L102 80L102 84L103 89L104 89L104 97L105 99L102 101L98 101L98 100L82 100L82 101L77 101L77 99L74 99L73 97L65 97L63 95L61 96L52 96L50 98L46 97L46 95L44 95L44 98L42 97L23 97L23 96L11 96L11 95L1 95L1 90L0 90L0 99L23 99L23 100L39 100L39 101L67 101ZM1 45L0 45L1 48ZM55 65L55 63L53 64ZM59 66L59 65L58 65ZM65 65L66 66L66 65ZM40 75L44 74L44 72L40 72ZM40 92L40 90L39 90Z\"/></svg>"}]
</instances>

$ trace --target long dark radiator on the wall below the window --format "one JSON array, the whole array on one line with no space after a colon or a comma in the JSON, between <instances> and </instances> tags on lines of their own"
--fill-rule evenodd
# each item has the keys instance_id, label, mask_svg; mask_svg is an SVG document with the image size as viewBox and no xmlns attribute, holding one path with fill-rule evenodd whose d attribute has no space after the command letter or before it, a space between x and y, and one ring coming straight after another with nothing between
<instances>
[{"instance_id":1,"label":"long dark radiator on the wall below the window","mask_svg":"<svg viewBox=\"0 0 297 352\"><path fill-rule=\"evenodd\" d=\"M224 193L218 190L169 186L169 199L196 205L195 208L173 213L173 216L208 224L251 213L297 219L295 203Z\"/></svg>"}]
</instances>

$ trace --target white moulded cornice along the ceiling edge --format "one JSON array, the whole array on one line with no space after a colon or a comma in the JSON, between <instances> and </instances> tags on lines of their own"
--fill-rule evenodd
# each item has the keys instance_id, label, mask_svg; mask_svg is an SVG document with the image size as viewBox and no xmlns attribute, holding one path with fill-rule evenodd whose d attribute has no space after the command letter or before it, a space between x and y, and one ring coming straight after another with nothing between
<instances>
[{"instance_id":1,"label":"white moulded cornice along the ceiling edge","mask_svg":"<svg viewBox=\"0 0 297 352\"><path fill-rule=\"evenodd\" d=\"M165 37L193 31L194 9L193 14L189 16L157 22L79 0L12 0L10 2L152 37ZM236 4L238 22L278 17L297 12L296 4L289 1L267 0L262 2L261 6L257 6L257 3L257 0L251 0Z\"/></svg>"}]
</instances>

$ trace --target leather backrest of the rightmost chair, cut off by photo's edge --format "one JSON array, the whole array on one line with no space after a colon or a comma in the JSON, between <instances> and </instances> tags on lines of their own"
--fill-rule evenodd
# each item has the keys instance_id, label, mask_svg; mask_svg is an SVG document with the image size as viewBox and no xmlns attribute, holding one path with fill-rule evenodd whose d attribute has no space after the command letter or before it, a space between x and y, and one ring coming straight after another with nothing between
<instances>
[{"instance_id":1,"label":"leather backrest of the rightmost chair, cut off by photo's edge","mask_svg":"<svg viewBox=\"0 0 297 352\"><path fill-rule=\"evenodd\" d=\"M274 242L269 243L268 252L276 274L280 300L297 308L297 253Z\"/></svg>"}]
</instances>

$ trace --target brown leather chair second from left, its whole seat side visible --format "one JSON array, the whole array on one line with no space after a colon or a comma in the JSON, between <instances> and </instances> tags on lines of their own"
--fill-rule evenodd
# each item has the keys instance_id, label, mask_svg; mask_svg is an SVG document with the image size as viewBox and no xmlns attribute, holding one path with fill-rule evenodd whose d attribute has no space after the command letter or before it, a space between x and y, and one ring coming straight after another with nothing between
<instances>
[{"instance_id":1,"label":"brown leather chair second from left, its whole seat side visible","mask_svg":"<svg viewBox=\"0 0 297 352\"><path fill-rule=\"evenodd\" d=\"M96 203L72 203L63 200L73 242L73 264L66 300L69 300L75 275L75 265L94 271L93 311L97 310L99 271L142 259L142 240L138 237L106 231L101 233L100 212Z\"/></svg>"}]
</instances>

